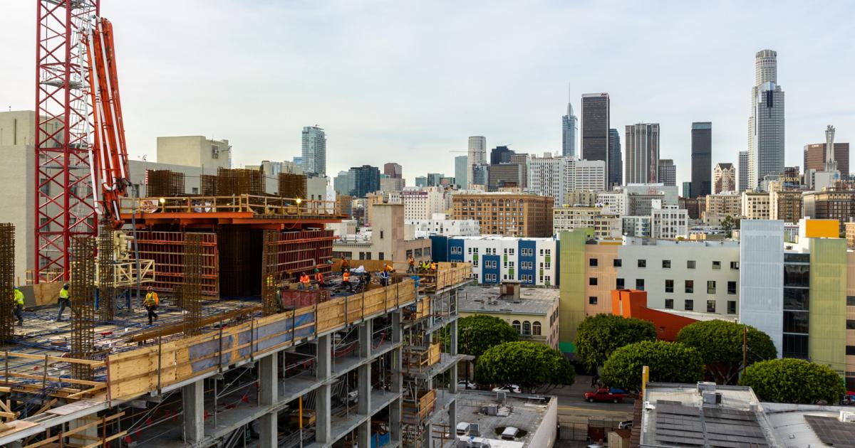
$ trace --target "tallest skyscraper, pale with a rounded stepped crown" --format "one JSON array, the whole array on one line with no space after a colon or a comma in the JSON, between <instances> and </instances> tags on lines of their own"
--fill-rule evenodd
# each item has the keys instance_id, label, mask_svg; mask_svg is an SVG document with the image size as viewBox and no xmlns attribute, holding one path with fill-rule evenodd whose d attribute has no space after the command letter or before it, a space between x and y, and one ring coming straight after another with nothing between
<instances>
[{"instance_id":1,"label":"tallest skyscraper, pale with a rounded stepped crown","mask_svg":"<svg viewBox=\"0 0 855 448\"><path fill-rule=\"evenodd\" d=\"M748 119L748 189L784 169L784 90L778 85L777 52L762 49L754 61L752 114Z\"/></svg>"}]
</instances>

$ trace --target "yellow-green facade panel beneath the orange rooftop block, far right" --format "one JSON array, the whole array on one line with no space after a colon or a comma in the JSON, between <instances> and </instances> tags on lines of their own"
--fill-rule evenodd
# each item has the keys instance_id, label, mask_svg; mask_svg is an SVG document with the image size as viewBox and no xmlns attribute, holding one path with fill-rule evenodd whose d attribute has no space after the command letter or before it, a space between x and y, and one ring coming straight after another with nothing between
<instances>
[{"instance_id":1,"label":"yellow-green facade panel beneath the orange rooftop block, far right","mask_svg":"<svg viewBox=\"0 0 855 448\"><path fill-rule=\"evenodd\" d=\"M842 376L846 369L846 240L811 241L808 356Z\"/></svg>"}]
</instances>

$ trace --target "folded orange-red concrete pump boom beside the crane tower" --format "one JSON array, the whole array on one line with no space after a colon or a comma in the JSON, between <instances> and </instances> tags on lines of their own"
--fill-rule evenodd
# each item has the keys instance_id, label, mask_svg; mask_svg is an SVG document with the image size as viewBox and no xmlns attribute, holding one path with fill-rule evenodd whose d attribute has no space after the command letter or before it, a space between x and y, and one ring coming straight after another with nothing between
<instances>
[{"instance_id":1,"label":"folded orange-red concrete pump boom beside the crane tower","mask_svg":"<svg viewBox=\"0 0 855 448\"><path fill-rule=\"evenodd\" d=\"M121 227L119 201L131 184L127 172L125 126L119 100L113 25L103 18L92 20L80 30L81 56L89 81L92 104L91 177L97 212L103 221Z\"/></svg>"}]
</instances>

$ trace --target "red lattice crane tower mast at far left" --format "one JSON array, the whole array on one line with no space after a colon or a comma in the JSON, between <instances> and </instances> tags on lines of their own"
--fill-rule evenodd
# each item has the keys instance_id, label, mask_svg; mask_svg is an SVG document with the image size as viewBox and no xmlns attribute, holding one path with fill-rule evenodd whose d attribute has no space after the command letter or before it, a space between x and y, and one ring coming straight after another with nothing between
<instances>
[{"instance_id":1,"label":"red lattice crane tower mast at far left","mask_svg":"<svg viewBox=\"0 0 855 448\"><path fill-rule=\"evenodd\" d=\"M100 0L36 0L35 259L33 282L68 280L71 239L95 235L87 134L89 76L77 32Z\"/></svg>"}]
</instances>

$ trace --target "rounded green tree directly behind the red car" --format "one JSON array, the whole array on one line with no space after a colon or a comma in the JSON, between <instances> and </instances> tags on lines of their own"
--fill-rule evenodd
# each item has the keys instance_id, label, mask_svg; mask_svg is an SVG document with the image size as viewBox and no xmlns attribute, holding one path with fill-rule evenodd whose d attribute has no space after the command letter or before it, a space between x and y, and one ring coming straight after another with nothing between
<instances>
[{"instance_id":1,"label":"rounded green tree directly behind the red car","mask_svg":"<svg viewBox=\"0 0 855 448\"><path fill-rule=\"evenodd\" d=\"M650 381L693 383L704 378L704 361L697 350L678 342L644 340L615 350L603 365L603 381L639 390L644 366L650 368Z\"/></svg>"}]
</instances>

